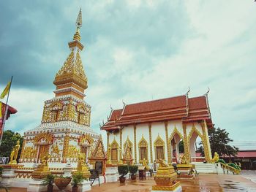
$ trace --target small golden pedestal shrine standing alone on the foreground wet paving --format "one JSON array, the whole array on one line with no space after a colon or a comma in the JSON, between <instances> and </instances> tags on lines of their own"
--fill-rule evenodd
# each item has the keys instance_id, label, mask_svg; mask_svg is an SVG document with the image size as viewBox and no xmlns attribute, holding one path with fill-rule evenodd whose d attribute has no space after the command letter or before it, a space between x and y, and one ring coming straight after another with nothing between
<instances>
[{"instance_id":1,"label":"small golden pedestal shrine standing alone on the foreground wet paving","mask_svg":"<svg viewBox=\"0 0 256 192\"><path fill-rule=\"evenodd\" d=\"M159 159L159 168L154 180L156 185L152 186L152 191L182 191L173 166L169 166L162 158Z\"/></svg>"}]
</instances>

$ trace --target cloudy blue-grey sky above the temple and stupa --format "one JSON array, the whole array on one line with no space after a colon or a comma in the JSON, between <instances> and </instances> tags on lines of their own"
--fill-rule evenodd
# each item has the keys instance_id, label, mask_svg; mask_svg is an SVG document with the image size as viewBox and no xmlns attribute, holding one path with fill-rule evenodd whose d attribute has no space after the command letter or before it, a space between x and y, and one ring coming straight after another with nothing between
<instances>
[{"instance_id":1,"label":"cloudy blue-grey sky above the temple and stupa","mask_svg":"<svg viewBox=\"0 0 256 192\"><path fill-rule=\"evenodd\" d=\"M0 1L0 89L10 76L18 109L5 130L39 125L53 79L83 11L81 54L91 128L113 108L186 93L209 103L217 127L236 142L255 140L256 2ZM105 133L103 133L105 134Z\"/></svg>"}]
</instances>

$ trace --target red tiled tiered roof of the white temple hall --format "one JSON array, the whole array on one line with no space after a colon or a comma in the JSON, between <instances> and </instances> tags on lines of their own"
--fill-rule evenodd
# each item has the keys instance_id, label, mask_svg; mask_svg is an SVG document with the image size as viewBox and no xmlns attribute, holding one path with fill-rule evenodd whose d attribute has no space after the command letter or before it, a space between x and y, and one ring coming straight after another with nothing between
<instances>
[{"instance_id":1,"label":"red tiled tiered roof of the white temple hall","mask_svg":"<svg viewBox=\"0 0 256 192\"><path fill-rule=\"evenodd\" d=\"M187 98L187 95L184 95L127 104L123 109L113 110L108 122L101 129L110 130L122 125L175 119L184 122L206 120L208 126L211 127L211 115L206 96Z\"/></svg>"}]
</instances>

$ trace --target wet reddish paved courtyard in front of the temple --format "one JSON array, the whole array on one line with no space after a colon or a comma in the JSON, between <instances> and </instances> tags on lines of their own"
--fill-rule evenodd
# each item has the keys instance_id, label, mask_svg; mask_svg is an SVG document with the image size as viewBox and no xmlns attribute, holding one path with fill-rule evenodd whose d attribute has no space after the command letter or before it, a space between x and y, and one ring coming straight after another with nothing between
<instances>
[{"instance_id":1,"label":"wet reddish paved courtyard in front of the temple","mask_svg":"<svg viewBox=\"0 0 256 192\"><path fill-rule=\"evenodd\" d=\"M199 174L195 180L181 179L182 191L249 191L256 192L256 171L241 172L240 175L217 175ZM124 185L116 183L105 183L100 186L93 186L91 192L150 192L154 185L153 177L146 180L131 181L127 180ZM1 190L0 190L1 191ZM26 192L25 188L12 188L10 192Z\"/></svg>"}]
</instances>

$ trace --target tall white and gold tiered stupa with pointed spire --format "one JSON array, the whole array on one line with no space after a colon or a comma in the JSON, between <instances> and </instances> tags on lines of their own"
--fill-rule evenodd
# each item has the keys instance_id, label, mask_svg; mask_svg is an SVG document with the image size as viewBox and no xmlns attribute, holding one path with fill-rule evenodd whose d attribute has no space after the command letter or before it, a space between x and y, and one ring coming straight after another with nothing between
<instances>
[{"instance_id":1,"label":"tall white and gold tiered stupa with pointed spire","mask_svg":"<svg viewBox=\"0 0 256 192\"><path fill-rule=\"evenodd\" d=\"M90 128L91 106L83 100L88 85L80 58L81 10L76 26L68 44L70 53L53 81L55 96L45 101L41 124L24 133L19 162L25 167L39 163L45 154L50 154L50 167L61 167L68 161L75 165L78 153L85 153L87 161L99 142L99 134Z\"/></svg>"}]
</instances>

